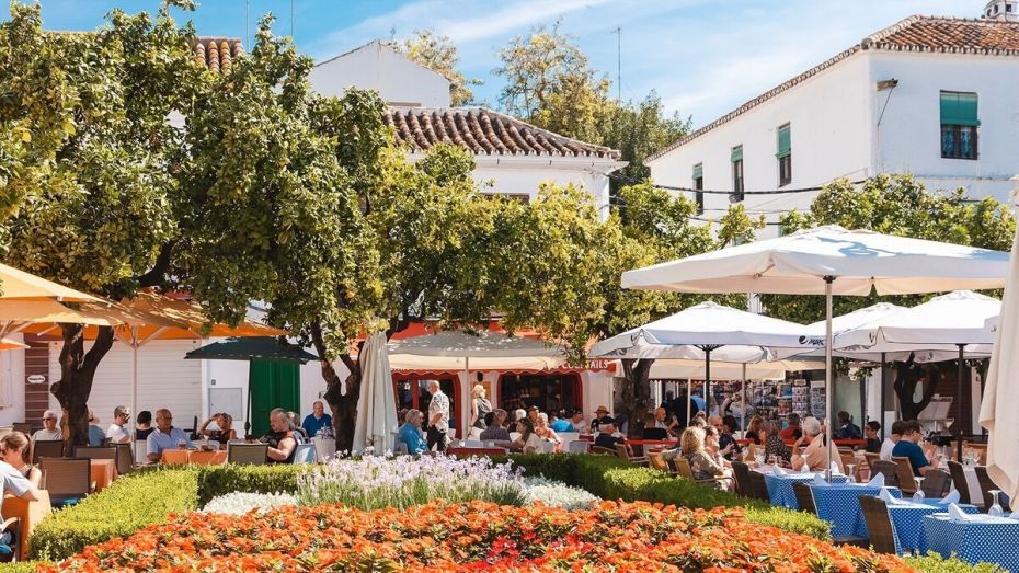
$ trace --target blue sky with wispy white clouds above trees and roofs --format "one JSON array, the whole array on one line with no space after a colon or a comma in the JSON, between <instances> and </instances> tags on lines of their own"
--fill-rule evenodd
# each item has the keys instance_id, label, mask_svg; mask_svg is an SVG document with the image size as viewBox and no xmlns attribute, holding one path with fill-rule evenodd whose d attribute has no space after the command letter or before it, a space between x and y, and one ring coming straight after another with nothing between
<instances>
[{"instance_id":1,"label":"blue sky with wispy white clouds above trees and roofs","mask_svg":"<svg viewBox=\"0 0 1019 573\"><path fill-rule=\"evenodd\" d=\"M93 30L112 8L154 10L158 0L42 0L50 30ZM533 26L562 21L595 67L615 81L622 30L622 96L652 89L669 111L702 125L912 14L975 18L985 0L199 0L199 34L245 37L266 12L316 60L375 38L431 27L460 48L461 69L485 82L495 106L496 51ZM245 4L250 27L245 28ZM0 12L5 15L4 12ZM245 46L249 45L245 42ZM615 90L615 87L614 87Z\"/></svg>"}]
</instances>

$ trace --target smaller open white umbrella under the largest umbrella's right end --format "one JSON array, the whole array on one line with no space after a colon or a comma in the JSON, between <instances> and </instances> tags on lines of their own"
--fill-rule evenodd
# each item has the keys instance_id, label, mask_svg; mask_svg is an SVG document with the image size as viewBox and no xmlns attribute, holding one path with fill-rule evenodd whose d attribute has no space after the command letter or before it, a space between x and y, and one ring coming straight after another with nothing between
<instances>
[{"instance_id":1,"label":"smaller open white umbrella under the largest umbrella's right end","mask_svg":"<svg viewBox=\"0 0 1019 573\"><path fill-rule=\"evenodd\" d=\"M1001 301L996 298L972 290L955 290L841 332L835 336L835 351L895 355L926 351L941 360L955 358L959 363L955 434L961 458L965 359L991 356L994 332L987 328L987 321L1000 311Z\"/></svg>"}]
</instances>

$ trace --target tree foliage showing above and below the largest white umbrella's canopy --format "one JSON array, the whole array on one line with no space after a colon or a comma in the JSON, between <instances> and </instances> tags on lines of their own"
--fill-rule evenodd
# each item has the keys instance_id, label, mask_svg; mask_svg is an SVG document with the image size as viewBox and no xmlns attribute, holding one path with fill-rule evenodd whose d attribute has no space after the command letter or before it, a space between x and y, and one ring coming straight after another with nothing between
<instances>
[{"instance_id":1,"label":"tree foliage showing above and below the largest white umbrella's canopy","mask_svg":"<svg viewBox=\"0 0 1019 573\"><path fill-rule=\"evenodd\" d=\"M780 220L789 233L818 225L847 229L870 229L900 237L913 237L1008 251L1016 232L1016 220L1007 205L987 197L973 203L964 190L931 193L912 175L879 175L857 188L848 181L836 181L817 195L809 213L793 211ZM931 295L878 297L835 297L836 316L879 301L913 306ZM768 313L793 322L810 323L824 318L824 298L764 295Z\"/></svg>"}]
</instances>

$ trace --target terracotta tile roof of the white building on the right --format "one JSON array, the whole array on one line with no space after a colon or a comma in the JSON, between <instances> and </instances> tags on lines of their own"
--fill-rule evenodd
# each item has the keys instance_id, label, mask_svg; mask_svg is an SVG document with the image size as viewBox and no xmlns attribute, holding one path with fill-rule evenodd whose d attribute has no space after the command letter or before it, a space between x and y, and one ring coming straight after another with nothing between
<instances>
[{"instance_id":1,"label":"terracotta tile roof of the white building on the right","mask_svg":"<svg viewBox=\"0 0 1019 573\"><path fill-rule=\"evenodd\" d=\"M648 158L648 161L661 158L862 50L1015 57L1019 56L1019 22L966 18L909 16L895 25L867 36L859 44L754 98L665 149L653 153Z\"/></svg>"}]
</instances>

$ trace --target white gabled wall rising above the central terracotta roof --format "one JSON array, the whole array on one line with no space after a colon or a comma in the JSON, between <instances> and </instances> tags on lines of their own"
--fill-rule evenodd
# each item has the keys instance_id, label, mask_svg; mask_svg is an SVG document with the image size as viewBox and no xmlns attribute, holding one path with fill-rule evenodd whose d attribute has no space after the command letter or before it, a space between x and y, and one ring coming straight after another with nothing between
<instances>
[{"instance_id":1,"label":"white gabled wall rising above the central terracotta roof","mask_svg":"<svg viewBox=\"0 0 1019 573\"><path fill-rule=\"evenodd\" d=\"M356 85L376 90L393 105L449 107L448 79L379 42L318 64L308 79L311 88L323 95L340 96Z\"/></svg>"}]
</instances>

